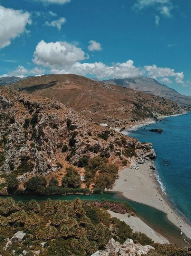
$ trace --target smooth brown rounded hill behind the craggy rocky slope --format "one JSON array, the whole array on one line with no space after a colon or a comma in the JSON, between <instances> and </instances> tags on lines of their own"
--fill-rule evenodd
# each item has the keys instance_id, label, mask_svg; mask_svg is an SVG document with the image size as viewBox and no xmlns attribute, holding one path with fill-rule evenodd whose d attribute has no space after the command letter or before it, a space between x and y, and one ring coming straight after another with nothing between
<instances>
[{"instance_id":1,"label":"smooth brown rounded hill behind the craggy rocky slope","mask_svg":"<svg viewBox=\"0 0 191 256\"><path fill-rule=\"evenodd\" d=\"M32 77L8 88L56 99L95 123L110 126L123 127L148 117L182 113L171 100L74 74Z\"/></svg>"}]
</instances>

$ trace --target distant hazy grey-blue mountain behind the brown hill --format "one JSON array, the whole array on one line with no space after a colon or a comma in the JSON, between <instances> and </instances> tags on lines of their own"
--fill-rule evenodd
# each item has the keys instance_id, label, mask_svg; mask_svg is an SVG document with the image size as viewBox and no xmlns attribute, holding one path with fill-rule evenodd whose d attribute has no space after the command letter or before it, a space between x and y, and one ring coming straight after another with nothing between
<instances>
[{"instance_id":1,"label":"distant hazy grey-blue mountain behind the brown hill","mask_svg":"<svg viewBox=\"0 0 191 256\"><path fill-rule=\"evenodd\" d=\"M182 107L191 107L191 97L185 96L172 88L169 88L162 83L157 82L155 79L149 77L130 77L124 79L109 79L100 81L106 84L121 85L134 90L139 90L143 92L149 92L151 94L157 95L159 97L164 97L170 99Z\"/></svg>"}]
</instances>

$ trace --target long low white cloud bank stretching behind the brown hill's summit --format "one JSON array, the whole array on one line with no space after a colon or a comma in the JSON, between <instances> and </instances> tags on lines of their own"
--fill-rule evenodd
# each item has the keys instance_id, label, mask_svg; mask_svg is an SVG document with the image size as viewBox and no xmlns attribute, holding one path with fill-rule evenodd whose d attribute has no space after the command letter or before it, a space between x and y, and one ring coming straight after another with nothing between
<instances>
[{"instance_id":1,"label":"long low white cloud bank stretching behind the brown hill's summit","mask_svg":"<svg viewBox=\"0 0 191 256\"><path fill-rule=\"evenodd\" d=\"M96 77L99 79L108 77L126 78L142 76L145 73L144 70L136 68L133 65L132 60L128 60L123 63L116 63L111 66L105 65L102 62L83 64L76 62L70 67L65 67L62 70L52 69L50 72L54 74L75 73L82 76L85 76L86 74L93 74L96 75Z\"/></svg>"}]
</instances>

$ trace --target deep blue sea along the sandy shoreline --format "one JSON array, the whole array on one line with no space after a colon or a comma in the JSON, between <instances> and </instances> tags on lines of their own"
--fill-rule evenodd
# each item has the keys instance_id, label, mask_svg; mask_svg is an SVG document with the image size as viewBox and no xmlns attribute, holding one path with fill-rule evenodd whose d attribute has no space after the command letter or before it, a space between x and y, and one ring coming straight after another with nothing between
<instances>
[{"instance_id":1,"label":"deep blue sea along the sandy shoreline","mask_svg":"<svg viewBox=\"0 0 191 256\"><path fill-rule=\"evenodd\" d=\"M157 128L163 132L149 131ZM191 221L191 112L139 127L128 136L153 144L155 176L174 207Z\"/></svg>"}]
</instances>

